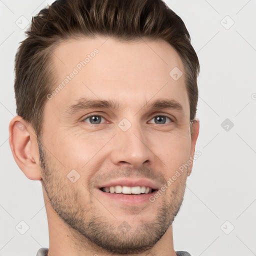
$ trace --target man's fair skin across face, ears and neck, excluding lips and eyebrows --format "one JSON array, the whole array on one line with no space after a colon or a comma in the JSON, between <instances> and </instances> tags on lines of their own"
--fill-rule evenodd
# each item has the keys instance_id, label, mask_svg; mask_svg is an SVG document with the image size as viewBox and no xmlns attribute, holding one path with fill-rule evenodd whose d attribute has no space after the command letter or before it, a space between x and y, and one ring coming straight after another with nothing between
<instances>
[{"instance_id":1,"label":"man's fair skin across face, ears and neck, excluding lips and eyebrows","mask_svg":"<svg viewBox=\"0 0 256 256\"><path fill-rule=\"evenodd\" d=\"M172 221L192 164L154 202L124 205L103 198L97 186L141 177L160 188L193 157L199 121L193 122L191 134L184 75L178 80L169 75L175 66L184 74L183 64L162 40L106 39L72 39L58 45L52 55L56 86L94 48L99 52L47 100L38 141L29 123L20 116L11 120L11 150L24 174L42 183L48 255L174 256ZM68 106L82 97L118 101L120 107L67 114ZM146 100L163 98L177 101L183 111L145 107ZM86 118L90 113L102 116L101 123L91 123ZM162 115L172 120L157 122L154 117ZM131 124L125 132L118 126L123 118ZM72 169L80 175L74 183L67 178Z\"/></svg>"}]
</instances>

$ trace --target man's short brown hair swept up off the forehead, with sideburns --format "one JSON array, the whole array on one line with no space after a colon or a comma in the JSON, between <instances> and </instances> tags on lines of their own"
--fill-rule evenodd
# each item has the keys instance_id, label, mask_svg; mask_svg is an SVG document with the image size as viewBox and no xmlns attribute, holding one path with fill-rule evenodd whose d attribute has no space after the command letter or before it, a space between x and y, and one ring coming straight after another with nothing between
<instances>
[{"instance_id":1,"label":"man's short brown hair swept up off the forehead, with sideburns","mask_svg":"<svg viewBox=\"0 0 256 256\"><path fill-rule=\"evenodd\" d=\"M26 34L15 55L16 113L31 123L37 135L46 95L55 82L52 50L65 39L83 36L168 42L184 65L190 120L195 118L199 61L184 22L162 0L56 0L32 17Z\"/></svg>"}]
</instances>

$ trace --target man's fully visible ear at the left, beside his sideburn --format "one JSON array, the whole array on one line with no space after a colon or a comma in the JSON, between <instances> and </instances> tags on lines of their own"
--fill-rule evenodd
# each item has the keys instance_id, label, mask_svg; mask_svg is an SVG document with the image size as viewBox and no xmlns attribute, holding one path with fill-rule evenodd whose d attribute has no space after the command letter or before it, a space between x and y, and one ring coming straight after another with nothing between
<instances>
[{"instance_id":1,"label":"man's fully visible ear at the left, beside his sideburn","mask_svg":"<svg viewBox=\"0 0 256 256\"><path fill-rule=\"evenodd\" d=\"M9 123L9 144L18 167L26 177L40 180L39 150L35 132L31 125L18 115Z\"/></svg>"}]
</instances>

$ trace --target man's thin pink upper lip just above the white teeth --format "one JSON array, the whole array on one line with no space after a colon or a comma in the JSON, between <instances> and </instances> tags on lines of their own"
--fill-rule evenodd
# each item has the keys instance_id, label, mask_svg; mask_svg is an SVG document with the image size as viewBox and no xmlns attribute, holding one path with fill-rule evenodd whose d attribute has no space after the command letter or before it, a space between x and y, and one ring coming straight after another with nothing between
<instances>
[{"instance_id":1,"label":"man's thin pink upper lip just above the white teeth","mask_svg":"<svg viewBox=\"0 0 256 256\"><path fill-rule=\"evenodd\" d=\"M110 186L116 186L116 185L121 185L121 186L148 186L152 189L158 189L157 184L155 182L150 181L148 179L116 179L116 180L111 180L107 183L101 184L98 186L98 188L101 187L110 187Z\"/></svg>"}]
</instances>

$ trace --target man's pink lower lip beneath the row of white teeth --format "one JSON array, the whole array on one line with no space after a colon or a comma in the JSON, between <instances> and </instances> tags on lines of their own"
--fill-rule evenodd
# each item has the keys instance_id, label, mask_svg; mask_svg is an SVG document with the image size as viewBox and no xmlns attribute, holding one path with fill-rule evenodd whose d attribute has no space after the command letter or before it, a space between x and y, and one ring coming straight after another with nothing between
<instances>
[{"instance_id":1,"label":"man's pink lower lip beneath the row of white teeth","mask_svg":"<svg viewBox=\"0 0 256 256\"><path fill-rule=\"evenodd\" d=\"M112 200L119 201L124 204L141 204L145 202L150 202L149 197L154 196L157 190L148 194L122 194L122 193L107 193L103 192L100 189L97 189L100 192L100 195L104 195Z\"/></svg>"}]
</instances>

